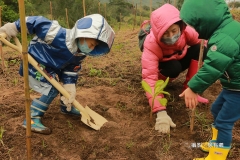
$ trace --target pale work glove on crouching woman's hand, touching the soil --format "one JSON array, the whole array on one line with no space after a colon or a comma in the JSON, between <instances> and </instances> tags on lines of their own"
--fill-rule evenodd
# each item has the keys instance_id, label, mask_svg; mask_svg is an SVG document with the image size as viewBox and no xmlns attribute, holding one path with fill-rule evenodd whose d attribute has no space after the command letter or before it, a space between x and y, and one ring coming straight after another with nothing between
<instances>
[{"instance_id":1,"label":"pale work glove on crouching woman's hand, touching the soil","mask_svg":"<svg viewBox=\"0 0 240 160\"><path fill-rule=\"evenodd\" d=\"M168 116L166 111L160 111L157 113L155 130L160 133L170 133L170 127L176 127L172 119Z\"/></svg>"}]
</instances>

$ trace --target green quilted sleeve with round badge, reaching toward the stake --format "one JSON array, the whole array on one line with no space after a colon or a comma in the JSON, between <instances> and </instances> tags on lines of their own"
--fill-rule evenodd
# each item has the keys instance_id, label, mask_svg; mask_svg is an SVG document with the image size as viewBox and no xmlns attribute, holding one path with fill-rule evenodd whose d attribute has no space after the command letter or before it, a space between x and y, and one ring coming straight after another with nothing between
<instances>
[{"instance_id":1,"label":"green quilted sleeve with round badge, reaching toward the stake","mask_svg":"<svg viewBox=\"0 0 240 160\"><path fill-rule=\"evenodd\" d=\"M204 92L220 77L225 77L225 81L228 81L227 76L224 76L225 72L236 74L236 67L230 66L236 61L235 58L238 57L239 45L225 34L218 34L218 36L224 38L209 40L208 45L210 48L204 64L188 82L189 88L195 93Z\"/></svg>"}]
</instances>

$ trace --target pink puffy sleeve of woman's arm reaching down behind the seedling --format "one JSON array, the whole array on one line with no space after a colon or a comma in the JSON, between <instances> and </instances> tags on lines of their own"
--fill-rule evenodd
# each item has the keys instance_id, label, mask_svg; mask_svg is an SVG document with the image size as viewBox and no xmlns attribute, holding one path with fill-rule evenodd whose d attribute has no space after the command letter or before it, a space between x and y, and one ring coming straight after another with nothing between
<instances>
[{"instance_id":1,"label":"pink puffy sleeve of woman's arm reaching down behind the seedling","mask_svg":"<svg viewBox=\"0 0 240 160\"><path fill-rule=\"evenodd\" d=\"M152 88L152 93L154 93L154 86L156 81L158 80L158 74L159 74L159 58L152 53L149 49L144 48L143 54L142 54L142 80L147 82L149 86ZM152 106L152 100L153 97L151 94L146 92L146 96L149 101L149 105ZM163 98L163 95L159 95L154 100L154 106L153 106L153 112L157 112L159 110L166 109L166 106L162 106L159 101L157 100L160 98Z\"/></svg>"}]
</instances>

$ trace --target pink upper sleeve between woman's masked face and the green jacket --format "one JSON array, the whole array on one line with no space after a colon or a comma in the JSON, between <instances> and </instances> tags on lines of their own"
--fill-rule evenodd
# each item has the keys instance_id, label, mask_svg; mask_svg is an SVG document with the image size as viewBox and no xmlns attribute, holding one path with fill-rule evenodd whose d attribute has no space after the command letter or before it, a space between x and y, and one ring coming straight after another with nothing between
<instances>
[{"instance_id":1,"label":"pink upper sleeve between woman's masked face and the green jacket","mask_svg":"<svg viewBox=\"0 0 240 160\"><path fill-rule=\"evenodd\" d=\"M188 46L193 46L198 43L201 43L201 40L198 39L198 33L193 28L187 26L184 32L186 34Z\"/></svg>"}]
</instances>

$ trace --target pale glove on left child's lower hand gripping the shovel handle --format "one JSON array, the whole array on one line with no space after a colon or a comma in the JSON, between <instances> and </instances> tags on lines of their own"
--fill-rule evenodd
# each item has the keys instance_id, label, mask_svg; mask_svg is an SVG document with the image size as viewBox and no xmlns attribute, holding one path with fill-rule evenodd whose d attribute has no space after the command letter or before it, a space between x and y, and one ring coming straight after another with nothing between
<instances>
[{"instance_id":1,"label":"pale glove on left child's lower hand gripping the shovel handle","mask_svg":"<svg viewBox=\"0 0 240 160\"><path fill-rule=\"evenodd\" d=\"M61 100L67 106L67 111L71 111L72 103L76 97L76 87L75 84L64 84L63 88L70 94L69 98L61 96Z\"/></svg>"}]
</instances>

